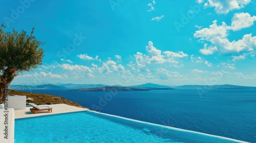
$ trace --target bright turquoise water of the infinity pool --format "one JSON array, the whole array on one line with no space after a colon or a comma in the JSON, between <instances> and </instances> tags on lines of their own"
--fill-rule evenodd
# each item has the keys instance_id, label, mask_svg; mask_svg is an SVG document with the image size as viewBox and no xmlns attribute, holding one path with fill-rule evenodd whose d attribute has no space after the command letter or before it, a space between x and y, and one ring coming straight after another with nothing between
<instances>
[{"instance_id":1,"label":"bright turquoise water of the infinity pool","mask_svg":"<svg viewBox=\"0 0 256 143\"><path fill-rule=\"evenodd\" d=\"M15 142L240 142L93 111L15 120Z\"/></svg>"}]
</instances>

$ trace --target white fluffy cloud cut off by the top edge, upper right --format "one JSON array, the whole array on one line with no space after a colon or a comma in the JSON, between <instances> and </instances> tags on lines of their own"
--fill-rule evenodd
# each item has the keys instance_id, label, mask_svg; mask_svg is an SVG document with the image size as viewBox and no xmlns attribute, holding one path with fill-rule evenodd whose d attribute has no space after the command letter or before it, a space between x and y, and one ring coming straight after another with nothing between
<instances>
[{"instance_id":1,"label":"white fluffy cloud cut off by the top edge, upper right","mask_svg":"<svg viewBox=\"0 0 256 143\"><path fill-rule=\"evenodd\" d=\"M202 0L197 2L202 3ZM229 11L244 8L250 2L250 0L208 0L204 7L214 7L217 13L226 14Z\"/></svg>"}]
</instances>

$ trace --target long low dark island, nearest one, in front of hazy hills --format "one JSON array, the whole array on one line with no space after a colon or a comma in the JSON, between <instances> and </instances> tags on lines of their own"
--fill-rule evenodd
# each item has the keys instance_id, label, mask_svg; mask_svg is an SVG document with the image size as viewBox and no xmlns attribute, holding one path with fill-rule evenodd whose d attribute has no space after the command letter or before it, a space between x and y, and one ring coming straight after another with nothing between
<instances>
[{"instance_id":1,"label":"long low dark island, nearest one, in front of hazy hills","mask_svg":"<svg viewBox=\"0 0 256 143\"><path fill-rule=\"evenodd\" d=\"M75 89L69 91L148 91L148 90L170 90L174 88L136 87L136 86L102 86L93 88Z\"/></svg>"}]
</instances>

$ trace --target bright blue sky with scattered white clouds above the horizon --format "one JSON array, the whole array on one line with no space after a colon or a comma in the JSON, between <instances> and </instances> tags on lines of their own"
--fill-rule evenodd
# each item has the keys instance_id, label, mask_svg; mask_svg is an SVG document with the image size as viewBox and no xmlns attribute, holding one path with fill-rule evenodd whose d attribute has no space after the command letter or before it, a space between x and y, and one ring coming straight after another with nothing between
<instances>
[{"instance_id":1,"label":"bright blue sky with scattered white clouds above the horizon","mask_svg":"<svg viewBox=\"0 0 256 143\"><path fill-rule=\"evenodd\" d=\"M1 23L42 42L42 65L15 84L256 86L256 3L1 1Z\"/></svg>"}]
</instances>

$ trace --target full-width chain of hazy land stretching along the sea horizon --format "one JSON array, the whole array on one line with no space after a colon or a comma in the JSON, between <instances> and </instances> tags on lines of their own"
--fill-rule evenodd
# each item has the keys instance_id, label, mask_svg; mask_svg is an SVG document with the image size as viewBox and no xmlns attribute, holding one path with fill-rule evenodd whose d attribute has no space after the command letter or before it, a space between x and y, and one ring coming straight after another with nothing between
<instances>
[{"instance_id":1,"label":"full-width chain of hazy land stretching along the sea horizon","mask_svg":"<svg viewBox=\"0 0 256 143\"><path fill-rule=\"evenodd\" d=\"M10 89L14 90L27 90L27 89L63 89L63 90L75 90L75 89L86 89L92 88L90 90L97 91L108 91L111 90L115 86L115 90L118 91L145 91L145 90L163 90L163 89L256 89L253 86L239 86L239 85L182 85L182 86L166 86L154 83L145 83L141 85L132 85L132 86L121 86L121 85L104 85L104 84L64 84L64 83L56 83L56 84L42 84L42 85L10 85ZM97 88L98 87L98 88ZM103 88L105 87L105 88ZM86 89L89 90L89 89Z\"/></svg>"}]
</instances>

